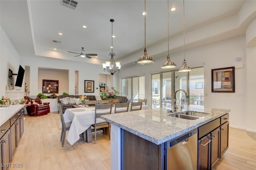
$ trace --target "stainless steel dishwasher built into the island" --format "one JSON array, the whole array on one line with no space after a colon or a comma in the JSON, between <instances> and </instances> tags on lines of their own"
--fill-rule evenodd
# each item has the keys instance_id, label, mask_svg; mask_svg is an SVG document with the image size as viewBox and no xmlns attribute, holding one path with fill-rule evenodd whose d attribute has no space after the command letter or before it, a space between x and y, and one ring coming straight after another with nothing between
<instances>
[{"instance_id":1,"label":"stainless steel dishwasher built into the island","mask_svg":"<svg viewBox=\"0 0 256 170\"><path fill-rule=\"evenodd\" d=\"M197 169L197 129L165 143L167 170Z\"/></svg>"}]
</instances>

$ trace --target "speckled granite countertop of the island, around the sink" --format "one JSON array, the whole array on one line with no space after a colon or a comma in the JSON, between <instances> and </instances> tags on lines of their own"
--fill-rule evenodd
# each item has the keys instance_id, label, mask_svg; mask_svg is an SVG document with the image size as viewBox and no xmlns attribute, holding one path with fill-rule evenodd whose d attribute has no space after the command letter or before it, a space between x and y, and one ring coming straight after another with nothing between
<instances>
[{"instance_id":1,"label":"speckled granite countertop of the island, around the sink","mask_svg":"<svg viewBox=\"0 0 256 170\"><path fill-rule=\"evenodd\" d=\"M158 108L102 115L101 118L156 145L160 145L231 111L230 109L192 109L190 107L183 109L183 111L185 110L205 112L208 115L196 120L188 120L168 116L168 114L174 113L168 113L166 108Z\"/></svg>"}]
</instances>

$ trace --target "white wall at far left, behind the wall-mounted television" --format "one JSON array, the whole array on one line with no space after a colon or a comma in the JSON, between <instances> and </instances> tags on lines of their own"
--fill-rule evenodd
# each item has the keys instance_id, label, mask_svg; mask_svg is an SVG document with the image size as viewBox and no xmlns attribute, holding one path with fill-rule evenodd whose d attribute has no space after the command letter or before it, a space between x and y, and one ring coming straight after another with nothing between
<instances>
[{"instance_id":1,"label":"white wall at far left, behind the wall-mounted television","mask_svg":"<svg viewBox=\"0 0 256 170\"><path fill-rule=\"evenodd\" d=\"M0 29L0 37L0 97L2 98L2 96L6 96L6 85L10 85L10 82L12 82L14 86L16 82L17 76L13 76L13 79L10 79L8 78L8 72L10 68L13 73L18 73L20 56L16 52L2 27ZM24 65L22 65L22 67L25 68Z\"/></svg>"}]
</instances>

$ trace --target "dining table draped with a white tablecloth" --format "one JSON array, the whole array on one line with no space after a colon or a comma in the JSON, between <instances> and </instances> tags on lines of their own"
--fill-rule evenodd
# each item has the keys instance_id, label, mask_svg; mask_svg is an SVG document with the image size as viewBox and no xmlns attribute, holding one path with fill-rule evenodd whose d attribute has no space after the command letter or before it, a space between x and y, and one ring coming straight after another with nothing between
<instances>
[{"instance_id":1,"label":"dining table draped with a white tablecloth","mask_svg":"<svg viewBox=\"0 0 256 170\"><path fill-rule=\"evenodd\" d=\"M116 110L121 111L122 109L126 110L125 108L117 108ZM128 112L130 111L130 109L131 107L129 105ZM150 107L148 105L142 105L142 109L150 109ZM111 114L114 114L114 111L115 108L113 106ZM76 141L80 139L81 134L84 141L87 141L88 143L92 142L91 125L95 123L95 106L82 107L82 105L78 105L76 106L76 108L66 109L63 117L65 123L72 122L68 131L68 135L66 137L70 145L76 143ZM100 123L105 121L101 118L97 118L97 122Z\"/></svg>"}]
</instances>

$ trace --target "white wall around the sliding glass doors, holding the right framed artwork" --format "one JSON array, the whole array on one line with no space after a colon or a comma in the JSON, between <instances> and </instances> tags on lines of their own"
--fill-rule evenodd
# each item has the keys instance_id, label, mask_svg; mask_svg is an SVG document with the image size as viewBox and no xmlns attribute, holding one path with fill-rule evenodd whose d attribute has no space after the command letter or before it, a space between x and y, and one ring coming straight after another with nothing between
<instances>
[{"instance_id":1,"label":"white wall around the sliding glass doors, holding the right framed artwork","mask_svg":"<svg viewBox=\"0 0 256 170\"><path fill-rule=\"evenodd\" d=\"M150 52L148 51L150 55ZM218 43L204 45L186 50L185 58L189 66L204 66L204 106L231 109L230 126L246 129L246 42L245 36L239 36ZM153 58L156 56L152 56ZM236 58L242 60L237 62ZM183 52L172 54L171 60L180 68ZM122 68L119 76L125 78L140 74L146 74L146 84L151 84L150 74L164 72L160 66L166 61L166 55L156 58L156 63L149 65L135 65ZM212 93L211 92L211 69L244 64L244 68L235 69L235 93ZM150 100L150 86L146 86L146 97ZM242 96L242 97L240 97ZM256 129L256 128L255 128Z\"/></svg>"}]
</instances>

